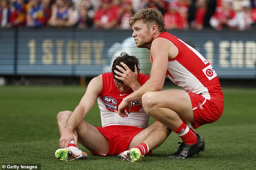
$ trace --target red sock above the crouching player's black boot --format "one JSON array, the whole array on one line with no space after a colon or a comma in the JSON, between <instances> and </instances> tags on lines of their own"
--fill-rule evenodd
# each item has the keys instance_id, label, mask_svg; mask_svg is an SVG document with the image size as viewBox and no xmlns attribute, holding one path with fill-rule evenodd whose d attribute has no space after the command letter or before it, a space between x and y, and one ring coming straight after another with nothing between
<instances>
[{"instance_id":1,"label":"red sock above the crouching player's black boot","mask_svg":"<svg viewBox=\"0 0 256 170\"><path fill-rule=\"evenodd\" d=\"M187 127L187 125L182 122L178 129L172 130L178 134L182 141L188 145L193 145L197 142L196 135Z\"/></svg>"}]
</instances>

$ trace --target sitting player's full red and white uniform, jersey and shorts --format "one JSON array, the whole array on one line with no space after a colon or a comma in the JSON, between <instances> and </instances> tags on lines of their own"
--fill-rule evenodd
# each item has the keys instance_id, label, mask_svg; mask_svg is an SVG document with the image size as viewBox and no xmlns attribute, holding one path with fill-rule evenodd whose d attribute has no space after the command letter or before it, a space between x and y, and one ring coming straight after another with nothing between
<instances>
[{"instance_id":1,"label":"sitting player's full red and white uniform, jersey and shorts","mask_svg":"<svg viewBox=\"0 0 256 170\"><path fill-rule=\"evenodd\" d=\"M138 82L143 85L149 76L138 74ZM132 93L121 93L115 85L113 73L102 74L103 87L98 97L98 105L101 112L101 125L96 127L109 140L109 152L107 155L118 155L124 152L130 141L140 131L148 127L149 115L145 113L141 102L131 102L131 112L125 119L118 115L118 105L123 98ZM97 154L97 153L94 153Z\"/></svg>"}]
</instances>

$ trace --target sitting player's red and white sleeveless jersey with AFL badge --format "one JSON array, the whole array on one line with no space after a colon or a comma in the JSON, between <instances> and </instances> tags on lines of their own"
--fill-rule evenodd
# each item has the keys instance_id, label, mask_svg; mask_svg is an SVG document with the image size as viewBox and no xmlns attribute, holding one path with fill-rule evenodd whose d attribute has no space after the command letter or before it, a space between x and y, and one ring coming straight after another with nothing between
<instances>
[{"instance_id":1,"label":"sitting player's red and white sleeveless jersey with AFL badge","mask_svg":"<svg viewBox=\"0 0 256 170\"><path fill-rule=\"evenodd\" d=\"M149 76L145 74L138 74L138 82L143 85ZM98 105L101 111L101 125L102 127L110 125L130 125L139 128L148 127L149 115L145 113L141 102L131 102L131 112L128 117L122 118L118 115L118 106L123 98L131 94L132 89L127 93L121 93L115 85L113 73L102 74L103 87L100 96L98 97Z\"/></svg>"}]
</instances>

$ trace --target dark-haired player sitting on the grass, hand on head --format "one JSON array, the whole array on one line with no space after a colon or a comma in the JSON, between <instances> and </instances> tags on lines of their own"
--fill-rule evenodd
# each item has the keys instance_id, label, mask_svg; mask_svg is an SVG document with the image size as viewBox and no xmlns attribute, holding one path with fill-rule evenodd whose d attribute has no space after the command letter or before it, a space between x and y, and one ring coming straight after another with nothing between
<instances>
[{"instance_id":1,"label":"dark-haired player sitting on the grass, hand on head","mask_svg":"<svg viewBox=\"0 0 256 170\"><path fill-rule=\"evenodd\" d=\"M135 56L123 52L114 61L111 73L93 78L76 109L61 111L57 115L60 147L55 152L59 160L82 160L88 155L78 149L78 142L92 154L118 155L120 160L137 162L144 155L161 145L170 129L155 121L148 127L149 115L141 102L132 101L129 116L118 115L122 99L143 85L149 76L139 74L139 62ZM119 73L118 73L119 72ZM122 74L120 80L115 76ZM84 120L97 100L102 127L94 127ZM94 113L98 114L98 113Z\"/></svg>"}]
</instances>

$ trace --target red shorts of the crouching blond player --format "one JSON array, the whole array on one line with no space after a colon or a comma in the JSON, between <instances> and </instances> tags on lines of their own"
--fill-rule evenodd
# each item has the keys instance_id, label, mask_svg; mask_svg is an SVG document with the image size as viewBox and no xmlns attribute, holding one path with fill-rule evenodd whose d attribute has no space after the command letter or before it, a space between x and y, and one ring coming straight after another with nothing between
<instances>
[{"instance_id":1,"label":"red shorts of the crouching blond player","mask_svg":"<svg viewBox=\"0 0 256 170\"><path fill-rule=\"evenodd\" d=\"M224 101L207 100L200 94L189 93L193 114L194 123L191 123L194 129L207 123L217 121L222 115L224 109Z\"/></svg>"}]
</instances>

